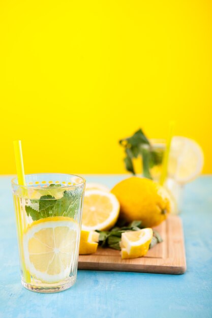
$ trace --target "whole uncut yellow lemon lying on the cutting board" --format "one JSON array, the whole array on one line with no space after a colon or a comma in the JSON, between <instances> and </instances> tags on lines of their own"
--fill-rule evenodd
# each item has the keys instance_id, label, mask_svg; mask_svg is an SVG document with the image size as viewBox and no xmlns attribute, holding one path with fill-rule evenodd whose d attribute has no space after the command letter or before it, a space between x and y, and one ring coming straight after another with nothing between
<instances>
[{"instance_id":1,"label":"whole uncut yellow lemon lying on the cutting board","mask_svg":"<svg viewBox=\"0 0 212 318\"><path fill-rule=\"evenodd\" d=\"M120 218L141 220L142 226L154 227L170 212L169 195L157 182L139 177L127 178L111 190L120 203Z\"/></svg>"}]
</instances>

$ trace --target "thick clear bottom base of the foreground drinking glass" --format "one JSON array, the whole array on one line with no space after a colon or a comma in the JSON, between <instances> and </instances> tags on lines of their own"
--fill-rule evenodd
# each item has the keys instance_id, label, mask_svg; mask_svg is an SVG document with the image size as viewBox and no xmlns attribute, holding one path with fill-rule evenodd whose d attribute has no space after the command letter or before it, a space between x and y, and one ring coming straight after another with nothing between
<instances>
[{"instance_id":1,"label":"thick clear bottom base of the foreground drinking glass","mask_svg":"<svg viewBox=\"0 0 212 318\"><path fill-rule=\"evenodd\" d=\"M32 284L32 283L27 283L23 280L21 280L21 283L23 287L25 287L27 290L36 292L36 293L58 293L65 291L72 287L74 283L76 282L76 276L71 276L69 277L68 281L66 281L64 284L57 284L52 286L47 286L47 284Z\"/></svg>"}]
</instances>

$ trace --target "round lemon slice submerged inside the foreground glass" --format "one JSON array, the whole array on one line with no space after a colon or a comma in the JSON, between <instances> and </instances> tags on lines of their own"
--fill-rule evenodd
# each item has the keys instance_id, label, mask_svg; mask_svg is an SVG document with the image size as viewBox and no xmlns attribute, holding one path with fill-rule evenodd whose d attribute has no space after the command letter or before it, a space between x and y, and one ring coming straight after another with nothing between
<instances>
[{"instance_id":1,"label":"round lemon slice submerged inside the foreground glass","mask_svg":"<svg viewBox=\"0 0 212 318\"><path fill-rule=\"evenodd\" d=\"M42 282L57 282L69 276L76 259L78 224L55 216L34 221L23 235L25 266Z\"/></svg>"}]
</instances>

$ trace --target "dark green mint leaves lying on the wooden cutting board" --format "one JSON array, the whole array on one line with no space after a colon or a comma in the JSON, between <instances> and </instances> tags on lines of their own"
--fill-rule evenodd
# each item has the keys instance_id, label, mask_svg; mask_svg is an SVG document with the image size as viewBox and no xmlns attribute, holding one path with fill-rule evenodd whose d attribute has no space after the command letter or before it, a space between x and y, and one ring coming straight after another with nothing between
<instances>
[{"instance_id":1,"label":"dark green mint leaves lying on the wooden cutting board","mask_svg":"<svg viewBox=\"0 0 212 318\"><path fill-rule=\"evenodd\" d=\"M123 221L122 221L123 222ZM100 233L99 236L99 246L101 247L110 247L113 249L120 250L120 241L122 239L122 233L127 231L139 231L142 229L141 221L133 221L126 226L115 226L110 231L96 231ZM154 247L156 244L163 242L160 234L153 230L153 238L150 242L149 248Z\"/></svg>"}]
</instances>

